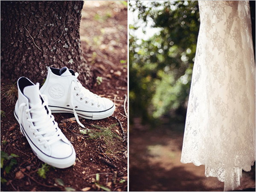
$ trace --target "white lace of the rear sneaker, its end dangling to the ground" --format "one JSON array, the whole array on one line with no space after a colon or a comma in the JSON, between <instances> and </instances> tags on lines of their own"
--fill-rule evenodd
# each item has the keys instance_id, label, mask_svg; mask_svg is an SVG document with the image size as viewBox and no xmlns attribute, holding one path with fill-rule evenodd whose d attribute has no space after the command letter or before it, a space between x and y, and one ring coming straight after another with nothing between
<instances>
[{"instance_id":1,"label":"white lace of the rear sneaker, its end dangling to the ground","mask_svg":"<svg viewBox=\"0 0 256 192\"><path fill-rule=\"evenodd\" d=\"M76 78L79 76L78 73L75 73ZM73 80L71 82L71 91L70 91L70 100L71 100L71 105L73 108L73 112L74 115L76 117L76 121L78 122L78 124L82 127L85 128L84 125L79 121L78 115L76 113L75 107L73 105L73 95L74 95L74 91L78 91L76 93L76 96L80 96L80 100L83 101L85 99L85 103L87 104L90 101L94 101L91 103L91 105L97 105L98 107L100 107L99 104L99 98L101 98L100 96L90 92L89 90L87 90L85 87L82 86L82 84L76 79ZM93 98L93 99L92 99Z\"/></svg>"}]
</instances>

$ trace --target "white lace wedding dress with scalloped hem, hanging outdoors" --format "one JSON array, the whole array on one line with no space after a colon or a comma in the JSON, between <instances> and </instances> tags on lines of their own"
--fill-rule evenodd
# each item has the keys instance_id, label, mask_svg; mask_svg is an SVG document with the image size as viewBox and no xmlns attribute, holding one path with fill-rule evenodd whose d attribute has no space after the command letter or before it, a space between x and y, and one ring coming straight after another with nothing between
<instances>
[{"instance_id":1,"label":"white lace wedding dress with scalloped hem, hanging outdoors","mask_svg":"<svg viewBox=\"0 0 256 192\"><path fill-rule=\"evenodd\" d=\"M224 190L255 161L255 62L248 1L198 1L200 30L182 163L205 165Z\"/></svg>"}]
</instances>

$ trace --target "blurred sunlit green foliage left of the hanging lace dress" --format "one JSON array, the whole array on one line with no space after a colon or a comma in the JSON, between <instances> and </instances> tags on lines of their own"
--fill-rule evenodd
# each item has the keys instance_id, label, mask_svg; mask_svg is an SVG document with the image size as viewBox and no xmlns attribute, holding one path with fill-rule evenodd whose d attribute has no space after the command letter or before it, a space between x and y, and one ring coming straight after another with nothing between
<instances>
[{"instance_id":1,"label":"blurred sunlit green foliage left of the hanging lace dress","mask_svg":"<svg viewBox=\"0 0 256 192\"><path fill-rule=\"evenodd\" d=\"M138 26L129 25L131 120L141 116L148 121L186 108L199 31L198 2L136 1L130 11L138 12L140 20ZM137 30L147 23L160 32L138 39Z\"/></svg>"}]
</instances>

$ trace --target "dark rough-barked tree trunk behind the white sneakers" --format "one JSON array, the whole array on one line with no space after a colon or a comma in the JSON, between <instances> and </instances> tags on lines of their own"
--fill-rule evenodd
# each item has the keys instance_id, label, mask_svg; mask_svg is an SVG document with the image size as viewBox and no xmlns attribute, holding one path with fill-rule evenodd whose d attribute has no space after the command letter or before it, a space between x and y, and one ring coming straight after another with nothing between
<instances>
[{"instance_id":1,"label":"dark rough-barked tree trunk behind the white sneakers","mask_svg":"<svg viewBox=\"0 0 256 192\"><path fill-rule=\"evenodd\" d=\"M86 84L90 67L80 49L83 1L1 1L1 77L26 76L42 83L47 67L78 71Z\"/></svg>"}]
</instances>

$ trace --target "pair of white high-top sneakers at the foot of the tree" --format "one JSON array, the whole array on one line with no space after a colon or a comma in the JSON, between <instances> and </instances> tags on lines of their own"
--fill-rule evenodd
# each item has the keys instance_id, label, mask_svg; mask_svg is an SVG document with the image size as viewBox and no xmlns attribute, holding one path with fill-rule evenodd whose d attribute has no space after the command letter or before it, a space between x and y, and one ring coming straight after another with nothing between
<instances>
[{"instance_id":1,"label":"pair of white high-top sneakers at the foot of the tree","mask_svg":"<svg viewBox=\"0 0 256 192\"><path fill-rule=\"evenodd\" d=\"M26 77L17 81L18 99L14 115L20 124L20 131L38 158L56 168L72 166L76 152L58 128L52 113L74 113L77 122L84 128L78 116L103 119L115 111L111 100L84 88L77 76L78 73L67 67L49 67L47 79L40 90L39 83L34 84Z\"/></svg>"}]
</instances>

